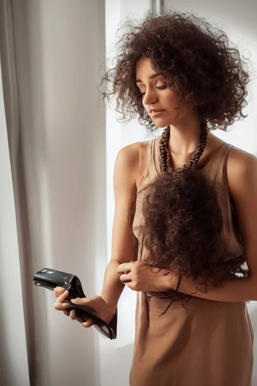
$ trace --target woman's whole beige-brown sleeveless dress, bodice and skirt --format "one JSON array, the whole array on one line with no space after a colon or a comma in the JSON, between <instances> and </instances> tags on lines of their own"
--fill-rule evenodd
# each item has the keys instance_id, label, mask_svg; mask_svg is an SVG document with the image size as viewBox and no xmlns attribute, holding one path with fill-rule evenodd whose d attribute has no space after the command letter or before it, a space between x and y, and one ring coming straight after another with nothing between
<instances>
[{"instance_id":1,"label":"woman's whole beige-brown sleeveless dress, bodice and skirt","mask_svg":"<svg viewBox=\"0 0 257 386\"><path fill-rule=\"evenodd\" d=\"M138 236L142 219L142 187L156 174L160 137L149 141L145 172L138 189L133 229ZM223 143L201 167L217 186L223 213L223 237L231 256L243 248L234 232L232 205L226 177L227 155L232 145ZM144 248L142 256L144 259ZM155 293L139 292L136 337L130 374L131 386L250 386L253 364L253 331L246 304L216 302L192 297L185 307ZM158 294L156 294L158 295ZM160 295L159 295L160 296Z\"/></svg>"}]
</instances>

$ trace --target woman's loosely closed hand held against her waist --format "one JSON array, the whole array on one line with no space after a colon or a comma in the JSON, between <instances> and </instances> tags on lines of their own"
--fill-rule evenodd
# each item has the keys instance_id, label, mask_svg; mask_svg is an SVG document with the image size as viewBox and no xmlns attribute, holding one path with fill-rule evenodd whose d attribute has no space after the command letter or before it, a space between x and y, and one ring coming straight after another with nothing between
<instances>
[{"instance_id":1,"label":"woman's loosely closed hand held against her waist","mask_svg":"<svg viewBox=\"0 0 257 386\"><path fill-rule=\"evenodd\" d=\"M133 291L168 292L175 289L178 275L165 269L151 268L146 261L122 263L118 266L119 279Z\"/></svg>"}]
</instances>

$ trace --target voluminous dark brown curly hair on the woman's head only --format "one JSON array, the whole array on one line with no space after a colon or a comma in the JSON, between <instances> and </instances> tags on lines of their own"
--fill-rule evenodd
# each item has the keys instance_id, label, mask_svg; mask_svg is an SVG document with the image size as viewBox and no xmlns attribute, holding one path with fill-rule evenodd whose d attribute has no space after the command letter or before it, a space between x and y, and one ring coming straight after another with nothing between
<instances>
[{"instance_id":1,"label":"voluminous dark brown curly hair on the woman's head only","mask_svg":"<svg viewBox=\"0 0 257 386\"><path fill-rule=\"evenodd\" d=\"M226 130L246 117L248 68L224 31L193 14L168 11L149 13L140 24L130 21L121 28L128 31L117 42L116 64L99 85L104 100L116 95L121 121L139 116L141 124L156 130L136 85L136 65L143 57L183 101L198 107L209 129Z\"/></svg>"}]
</instances>

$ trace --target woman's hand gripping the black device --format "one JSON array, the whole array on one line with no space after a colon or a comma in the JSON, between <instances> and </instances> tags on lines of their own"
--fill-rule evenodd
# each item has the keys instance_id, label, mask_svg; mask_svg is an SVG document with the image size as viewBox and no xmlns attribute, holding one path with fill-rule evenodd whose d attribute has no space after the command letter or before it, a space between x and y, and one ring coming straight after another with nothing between
<instances>
[{"instance_id":1,"label":"woman's hand gripping the black device","mask_svg":"<svg viewBox=\"0 0 257 386\"><path fill-rule=\"evenodd\" d=\"M112 316L114 313L110 310L110 308L107 306L107 304L104 302L104 300L100 296L93 296L91 298L76 298L72 299L71 303L68 303L66 301L67 296L69 295L69 292L67 289L65 290L63 287L56 287L54 289L54 293L56 295L56 303L54 303L53 307L56 310L63 311L63 313L66 316L69 316L72 320L76 320L79 323L82 324L83 327L91 327L94 323L91 319L88 319L85 321L84 319L79 318L76 316L75 310L67 311L67 309L72 307L71 303L80 305L80 306L90 306L95 309L95 311L98 313L99 317L104 320L105 322L109 323L112 319Z\"/></svg>"}]
</instances>

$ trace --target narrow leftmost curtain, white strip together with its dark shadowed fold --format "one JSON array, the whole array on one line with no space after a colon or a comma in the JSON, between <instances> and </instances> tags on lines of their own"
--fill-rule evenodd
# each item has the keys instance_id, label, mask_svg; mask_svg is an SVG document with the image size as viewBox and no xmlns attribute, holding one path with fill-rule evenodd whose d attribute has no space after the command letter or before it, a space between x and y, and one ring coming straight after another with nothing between
<instances>
[{"instance_id":1,"label":"narrow leftmost curtain, white strip together with its dark shadowed fold","mask_svg":"<svg viewBox=\"0 0 257 386\"><path fill-rule=\"evenodd\" d=\"M22 282L32 273L30 237L24 186L23 147L19 114L11 3L1 3L1 358L3 384L29 384L33 368L34 325L29 305L32 293ZM2 71L1 71L2 73ZM4 86L4 87L3 87ZM3 94L5 90L5 99ZM5 104L5 105L4 105ZM4 106L6 109L4 110ZM7 127L9 135L7 136ZM9 146L8 146L9 140ZM9 158L10 155L10 158ZM11 171L12 167L12 171ZM17 224L17 228L16 228ZM17 233L18 229L18 233ZM19 250L18 250L19 241ZM27 259L26 257L27 256ZM23 296L22 296L23 292ZM26 320L26 323L25 323ZM27 327L25 329L25 326ZM26 334L27 332L27 334ZM4 344L4 336L7 337ZM28 346L27 346L28 343Z\"/></svg>"}]
</instances>

